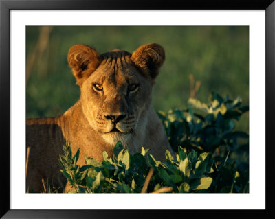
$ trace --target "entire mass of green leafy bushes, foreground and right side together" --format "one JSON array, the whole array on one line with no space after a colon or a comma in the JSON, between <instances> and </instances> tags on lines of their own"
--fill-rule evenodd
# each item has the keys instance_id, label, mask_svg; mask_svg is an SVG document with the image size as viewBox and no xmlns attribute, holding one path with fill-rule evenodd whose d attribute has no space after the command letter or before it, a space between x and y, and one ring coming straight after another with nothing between
<instances>
[{"instance_id":1,"label":"entire mass of green leafy bushes, foreground and right side together","mask_svg":"<svg viewBox=\"0 0 275 219\"><path fill-rule=\"evenodd\" d=\"M113 157L104 152L101 163L86 157L80 167L80 150L72 156L67 143L60 162L70 192L249 192L248 134L235 130L248 106L241 106L240 97L232 101L217 93L209 104L189 104L188 110L159 112L175 152L166 150L166 162L144 148L130 154L119 141Z\"/></svg>"}]
</instances>

